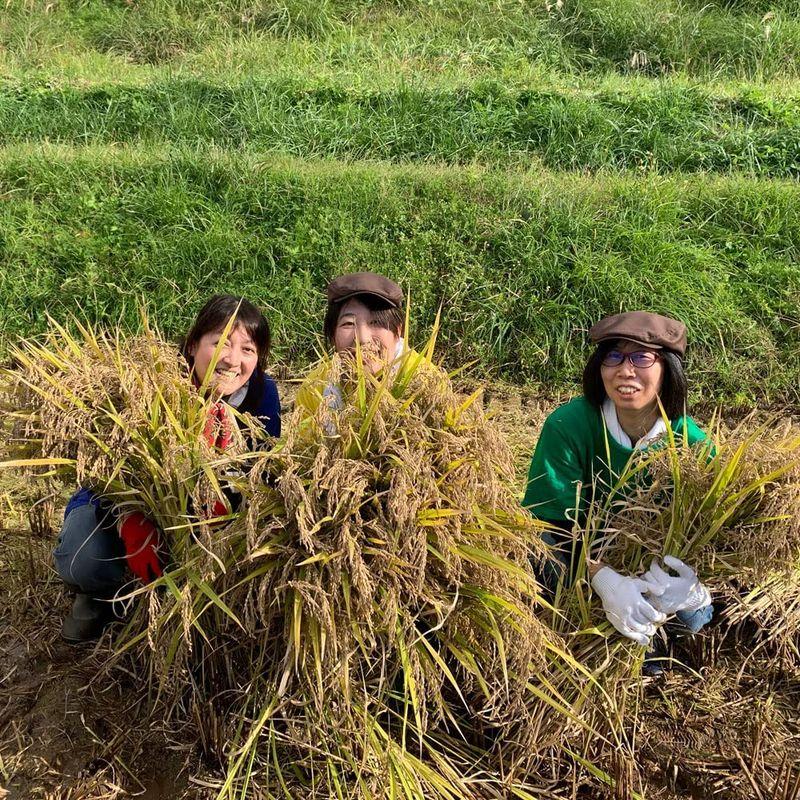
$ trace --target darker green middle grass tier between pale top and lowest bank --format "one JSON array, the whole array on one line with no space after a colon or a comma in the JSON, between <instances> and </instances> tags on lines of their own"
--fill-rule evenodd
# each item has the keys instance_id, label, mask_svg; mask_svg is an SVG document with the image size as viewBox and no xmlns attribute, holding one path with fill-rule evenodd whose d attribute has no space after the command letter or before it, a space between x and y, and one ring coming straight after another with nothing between
<instances>
[{"instance_id":1,"label":"darker green middle grass tier between pale top and lowest bank","mask_svg":"<svg viewBox=\"0 0 800 800\"><path fill-rule=\"evenodd\" d=\"M290 80L0 89L0 141L213 143L321 158L800 174L800 97L697 87L355 92Z\"/></svg>"}]
</instances>

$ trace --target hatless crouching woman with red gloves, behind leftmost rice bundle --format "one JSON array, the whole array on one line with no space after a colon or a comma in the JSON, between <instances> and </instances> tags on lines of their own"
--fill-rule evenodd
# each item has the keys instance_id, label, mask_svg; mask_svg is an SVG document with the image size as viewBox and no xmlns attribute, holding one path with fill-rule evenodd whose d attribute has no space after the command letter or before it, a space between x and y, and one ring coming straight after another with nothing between
<instances>
[{"instance_id":1,"label":"hatless crouching woman with red gloves, behind leftmost rice bundle","mask_svg":"<svg viewBox=\"0 0 800 800\"><path fill-rule=\"evenodd\" d=\"M219 349L214 374L207 376L220 338L235 317ZM270 330L264 315L247 300L231 295L212 297L200 310L181 348L189 379L222 402L212 406L209 444L225 449L233 415L226 407L252 414L271 436L280 436L278 390L265 370ZM206 378L208 377L208 380ZM143 514L118 515L102 495L79 489L67 504L64 524L53 553L56 571L75 592L64 619L62 636L69 642L97 639L112 618L108 600L126 582L126 567L143 582L161 575L160 535Z\"/></svg>"}]
</instances>

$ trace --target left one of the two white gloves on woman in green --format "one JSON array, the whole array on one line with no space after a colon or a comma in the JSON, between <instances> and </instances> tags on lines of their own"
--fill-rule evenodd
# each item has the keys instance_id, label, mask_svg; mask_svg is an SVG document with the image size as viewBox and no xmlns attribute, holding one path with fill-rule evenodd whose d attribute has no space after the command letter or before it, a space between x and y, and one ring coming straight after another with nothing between
<instances>
[{"instance_id":1,"label":"left one of the two white gloves on woman in green","mask_svg":"<svg viewBox=\"0 0 800 800\"><path fill-rule=\"evenodd\" d=\"M606 619L623 636L643 646L650 643L656 626L667 619L642 596L651 591L651 587L639 578L629 578L611 567L603 567L592 578L592 588L603 601Z\"/></svg>"}]
</instances>

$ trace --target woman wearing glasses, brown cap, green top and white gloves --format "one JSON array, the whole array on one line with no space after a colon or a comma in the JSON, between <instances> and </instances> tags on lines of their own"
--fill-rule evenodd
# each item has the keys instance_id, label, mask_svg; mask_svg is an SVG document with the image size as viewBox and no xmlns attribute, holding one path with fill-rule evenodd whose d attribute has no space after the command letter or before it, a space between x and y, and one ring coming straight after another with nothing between
<instances>
[{"instance_id":1,"label":"woman wearing glasses, brown cap, green top and white gloves","mask_svg":"<svg viewBox=\"0 0 800 800\"><path fill-rule=\"evenodd\" d=\"M532 514L554 528L545 534L554 548L554 560L543 576L551 589L559 571L568 579L574 574L580 543L573 528L581 529L589 502L608 496L635 450L646 449L666 434L659 402L676 437L690 445L706 440L685 414L683 323L631 311L602 319L589 336L596 349L583 372L583 396L560 406L545 421L523 500ZM677 576L658 564L639 579L589 563L592 586L609 621L642 645L667 615L677 614L696 632L713 613L708 590L694 571L670 556L664 561Z\"/></svg>"}]
</instances>

